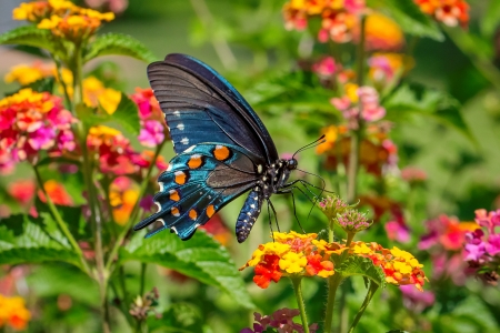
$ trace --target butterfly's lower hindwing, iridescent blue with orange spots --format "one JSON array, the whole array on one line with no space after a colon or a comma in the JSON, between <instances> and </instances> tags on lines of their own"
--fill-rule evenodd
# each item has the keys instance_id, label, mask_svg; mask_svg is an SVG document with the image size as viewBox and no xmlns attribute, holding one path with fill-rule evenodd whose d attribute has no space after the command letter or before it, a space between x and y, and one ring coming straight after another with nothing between
<instances>
[{"instance_id":1,"label":"butterfly's lower hindwing, iridescent blue with orange spots","mask_svg":"<svg viewBox=\"0 0 500 333\"><path fill-rule=\"evenodd\" d=\"M147 236L170 229L182 240L191 238L199 225L256 184L253 159L258 158L239 147L220 143L200 143L178 154L158 179L158 212L133 229L154 224Z\"/></svg>"}]
</instances>

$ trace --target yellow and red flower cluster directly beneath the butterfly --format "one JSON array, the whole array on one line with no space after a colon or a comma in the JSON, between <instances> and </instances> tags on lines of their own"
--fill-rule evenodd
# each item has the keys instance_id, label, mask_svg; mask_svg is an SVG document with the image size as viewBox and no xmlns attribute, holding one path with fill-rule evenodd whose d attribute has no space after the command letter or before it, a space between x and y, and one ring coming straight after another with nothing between
<instances>
[{"instance_id":1,"label":"yellow and red flower cluster directly beneath the butterfly","mask_svg":"<svg viewBox=\"0 0 500 333\"><path fill-rule=\"evenodd\" d=\"M330 256L340 254L346 248L317 240L317 236L316 233L274 232L274 242L259 245L252 259L240 271L248 266L254 268L253 282L262 289L267 289L271 281L280 281L283 275L333 275Z\"/></svg>"}]
</instances>

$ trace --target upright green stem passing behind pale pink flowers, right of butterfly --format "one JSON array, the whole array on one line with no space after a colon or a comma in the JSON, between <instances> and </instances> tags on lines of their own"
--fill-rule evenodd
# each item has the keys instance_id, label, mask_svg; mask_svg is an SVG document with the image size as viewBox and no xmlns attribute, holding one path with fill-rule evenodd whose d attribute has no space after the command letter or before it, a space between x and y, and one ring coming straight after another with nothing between
<instances>
[{"instance_id":1,"label":"upright green stem passing behind pale pink flowers, right of butterfly","mask_svg":"<svg viewBox=\"0 0 500 333\"><path fill-rule=\"evenodd\" d=\"M361 87L364 83L364 40L366 40L366 22L367 18L363 16L361 18L361 37L358 44L357 50L357 78L358 85ZM362 132L362 105L359 103L359 112L358 112L358 129L353 131L353 135L351 137L351 150L349 153L349 165L348 165L348 193L347 201L349 203L354 202L357 195L357 179L358 179L358 169L359 169L359 148L361 142L361 132Z\"/></svg>"}]
</instances>

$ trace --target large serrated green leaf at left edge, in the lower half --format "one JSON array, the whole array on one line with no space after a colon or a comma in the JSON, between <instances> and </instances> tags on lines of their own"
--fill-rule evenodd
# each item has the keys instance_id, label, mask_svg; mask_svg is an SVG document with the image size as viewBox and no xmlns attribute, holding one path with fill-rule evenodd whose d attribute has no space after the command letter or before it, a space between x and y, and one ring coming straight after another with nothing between
<instances>
[{"instance_id":1,"label":"large serrated green leaf at left edge, in the lower half","mask_svg":"<svg viewBox=\"0 0 500 333\"><path fill-rule=\"evenodd\" d=\"M62 261L80 266L78 254L48 213L12 215L0 222L0 264Z\"/></svg>"}]
</instances>

